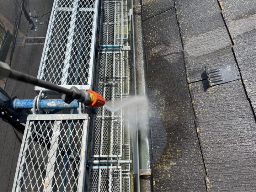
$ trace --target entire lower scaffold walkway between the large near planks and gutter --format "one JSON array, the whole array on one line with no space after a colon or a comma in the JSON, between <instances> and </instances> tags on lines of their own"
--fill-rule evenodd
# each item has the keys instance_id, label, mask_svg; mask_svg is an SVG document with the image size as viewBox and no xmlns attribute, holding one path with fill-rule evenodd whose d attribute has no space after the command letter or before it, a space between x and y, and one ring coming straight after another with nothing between
<instances>
[{"instance_id":1,"label":"entire lower scaffold walkway between the large near planks and gutter","mask_svg":"<svg viewBox=\"0 0 256 192\"><path fill-rule=\"evenodd\" d=\"M129 97L127 0L102 0L100 21L97 92L107 102L125 100ZM124 113L97 110L89 191L130 191L130 133Z\"/></svg>"}]
</instances>

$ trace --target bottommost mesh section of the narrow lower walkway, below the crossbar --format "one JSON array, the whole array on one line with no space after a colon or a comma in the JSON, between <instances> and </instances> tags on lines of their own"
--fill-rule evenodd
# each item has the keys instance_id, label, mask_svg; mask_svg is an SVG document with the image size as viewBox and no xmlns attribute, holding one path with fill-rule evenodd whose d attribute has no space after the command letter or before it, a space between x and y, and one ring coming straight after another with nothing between
<instances>
[{"instance_id":1,"label":"bottommost mesh section of the narrow lower walkway, below the crossbar","mask_svg":"<svg viewBox=\"0 0 256 192\"><path fill-rule=\"evenodd\" d=\"M122 191L120 166L93 166L90 191Z\"/></svg>"}]
</instances>

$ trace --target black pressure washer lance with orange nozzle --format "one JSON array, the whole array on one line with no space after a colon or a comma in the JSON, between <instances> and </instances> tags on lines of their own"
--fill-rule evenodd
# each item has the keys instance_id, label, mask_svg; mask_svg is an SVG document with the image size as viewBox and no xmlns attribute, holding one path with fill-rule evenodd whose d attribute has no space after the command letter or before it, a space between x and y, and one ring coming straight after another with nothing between
<instances>
[{"instance_id":1,"label":"black pressure washer lance with orange nozzle","mask_svg":"<svg viewBox=\"0 0 256 192\"><path fill-rule=\"evenodd\" d=\"M84 105L88 107L102 107L106 103L105 99L101 95L92 90L79 90L75 86L70 89L66 89L62 86L13 70L8 64L0 62L0 79L5 78L16 79L18 81L27 82L32 85L59 92L60 94L63 94L61 97L65 103L71 103L75 99L84 103Z\"/></svg>"}]
</instances>

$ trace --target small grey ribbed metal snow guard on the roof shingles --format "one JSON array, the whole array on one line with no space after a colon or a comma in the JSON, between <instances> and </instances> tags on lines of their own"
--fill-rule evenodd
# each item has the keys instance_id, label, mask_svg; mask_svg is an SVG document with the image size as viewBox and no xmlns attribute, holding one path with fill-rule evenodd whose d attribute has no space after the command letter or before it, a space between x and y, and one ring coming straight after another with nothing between
<instances>
[{"instance_id":1,"label":"small grey ribbed metal snow guard on the roof shingles","mask_svg":"<svg viewBox=\"0 0 256 192\"><path fill-rule=\"evenodd\" d=\"M236 65L222 65L212 68L206 66L206 74L210 86L241 79Z\"/></svg>"}]
</instances>

